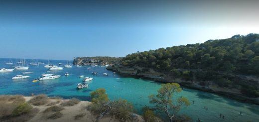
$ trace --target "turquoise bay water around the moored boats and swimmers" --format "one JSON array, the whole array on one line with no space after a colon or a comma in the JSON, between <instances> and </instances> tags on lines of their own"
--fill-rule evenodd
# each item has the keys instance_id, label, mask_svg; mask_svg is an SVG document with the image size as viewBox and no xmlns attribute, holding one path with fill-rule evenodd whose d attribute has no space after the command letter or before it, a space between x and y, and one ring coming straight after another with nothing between
<instances>
[{"instance_id":1,"label":"turquoise bay water around the moored boats and swimmers","mask_svg":"<svg viewBox=\"0 0 259 122\"><path fill-rule=\"evenodd\" d=\"M0 59L0 68L10 68L10 65L5 65L9 59ZM16 61L16 59L12 59ZM38 60L39 62L47 63L47 60ZM30 60L27 60L30 62ZM67 63L67 61L50 60L52 64ZM87 66L91 67L91 66ZM33 71L28 79L12 80L15 75L21 72ZM64 68L60 71L47 72L48 69L44 65L29 66L27 71L17 71L9 73L0 73L0 95L31 95L33 94L47 94L48 96L61 96L63 98L78 98L81 100L90 100L90 92L97 88L105 88L110 99L126 99L133 104L137 113L143 106L148 105L147 96L155 94L160 88L160 83L138 78L129 78L113 74L111 71L106 70L104 67L91 67L88 70L86 67ZM98 75L93 76L91 72L96 71ZM69 72L69 76L64 74ZM106 72L108 76L102 74ZM33 83L32 80L40 77L42 73L51 73L61 75L61 78L39 81ZM79 75L86 77L94 77L94 80L89 82L88 89L77 90L76 84L81 83L82 79L78 78ZM177 96L185 96L194 104L188 108L183 108L180 113L188 115L196 121L198 118L203 122L259 122L259 106L253 104L242 103L239 101L231 100L212 93L206 93L193 89L183 88L183 91ZM192 102L191 102L192 103ZM208 111L204 109L208 107ZM240 116L240 111L243 115ZM225 120L219 116L222 113Z\"/></svg>"}]
</instances>

